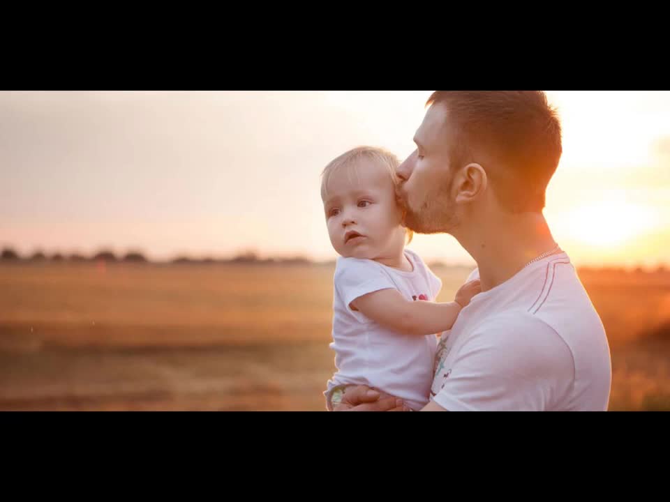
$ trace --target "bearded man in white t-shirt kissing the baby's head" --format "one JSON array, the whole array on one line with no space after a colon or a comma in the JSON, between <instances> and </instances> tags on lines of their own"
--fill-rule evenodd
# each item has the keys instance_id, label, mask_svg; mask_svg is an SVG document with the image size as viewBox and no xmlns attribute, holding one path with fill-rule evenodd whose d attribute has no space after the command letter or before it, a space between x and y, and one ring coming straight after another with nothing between
<instances>
[{"instance_id":1,"label":"bearded man in white t-shirt kissing the baby's head","mask_svg":"<svg viewBox=\"0 0 670 502\"><path fill-rule=\"evenodd\" d=\"M606 411L606 333L542 215L562 153L556 112L540 91L436 91L426 106L397 172L406 225L454 236L482 293L442 335L422 411ZM402 406L355 386L334 409Z\"/></svg>"}]
</instances>

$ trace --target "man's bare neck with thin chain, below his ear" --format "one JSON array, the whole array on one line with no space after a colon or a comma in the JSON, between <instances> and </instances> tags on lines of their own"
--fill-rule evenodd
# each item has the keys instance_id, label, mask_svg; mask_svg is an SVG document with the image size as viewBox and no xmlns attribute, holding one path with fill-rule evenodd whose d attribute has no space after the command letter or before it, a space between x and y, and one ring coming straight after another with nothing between
<instances>
[{"instance_id":1,"label":"man's bare neck with thin chain, below his ear","mask_svg":"<svg viewBox=\"0 0 670 502\"><path fill-rule=\"evenodd\" d=\"M556 247L541 213L502 215L471 228L472 232L456 238L477 261L482 291L509 280L528 262Z\"/></svg>"}]
</instances>

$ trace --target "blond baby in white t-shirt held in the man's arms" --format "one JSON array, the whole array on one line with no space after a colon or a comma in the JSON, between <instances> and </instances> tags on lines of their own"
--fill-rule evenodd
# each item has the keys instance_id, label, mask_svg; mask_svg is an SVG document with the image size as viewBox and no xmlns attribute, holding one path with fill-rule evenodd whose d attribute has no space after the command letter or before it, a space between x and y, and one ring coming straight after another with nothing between
<instances>
[{"instance_id":1,"label":"blond baby in white t-shirt held in the man's arms","mask_svg":"<svg viewBox=\"0 0 670 502\"><path fill-rule=\"evenodd\" d=\"M322 173L328 234L340 255L334 276L336 373L327 383L327 409L348 385L399 397L410 409L429 402L437 334L479 293L464 284L455 301L436 303L442 282L405 242L396 197L399 160L362 146L332 160Z\"/></svg>"}]
</instances>

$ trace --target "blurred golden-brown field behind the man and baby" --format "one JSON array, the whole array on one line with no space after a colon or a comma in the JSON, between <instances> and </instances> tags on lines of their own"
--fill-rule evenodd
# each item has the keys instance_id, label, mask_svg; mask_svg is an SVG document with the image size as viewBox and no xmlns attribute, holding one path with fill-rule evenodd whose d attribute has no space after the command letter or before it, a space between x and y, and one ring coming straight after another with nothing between
<instances>
[{"instance_id":1,"label":"blurred golden-brown field behind the man and baby","mask_svg":"<svg viewBox=\"0 0 670 502\"><path fill-rule=\"evenodd\" d=\"M468 268L436 267L453 298ZM324 409L331 265L0 264L0 410ZM611 410L670 410L670 273L585 271ZM656 331L655 331L656 330Z\"/></svg>"}]
</instances>

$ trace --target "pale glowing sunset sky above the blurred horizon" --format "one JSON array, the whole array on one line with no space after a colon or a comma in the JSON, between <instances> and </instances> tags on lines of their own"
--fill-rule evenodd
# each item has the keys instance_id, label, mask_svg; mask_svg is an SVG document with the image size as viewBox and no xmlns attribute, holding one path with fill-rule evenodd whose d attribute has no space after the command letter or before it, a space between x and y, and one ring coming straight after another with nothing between
<instances>
[{"instance_id":1,"label":"pale glowing sunset sky above the blurred horizon","mask_svg":"<svg viewBox=\"0 0 670 502\"><path fill-rule=\"evenodd\" d=\"M670 91L547 91L563 159L544 214L576 264L670 263ZM431 91L0 92L0 245L332 259L319 175L402 159ZM424 259L472 264L447 235Z\"/></svg>"}]
</instances>

